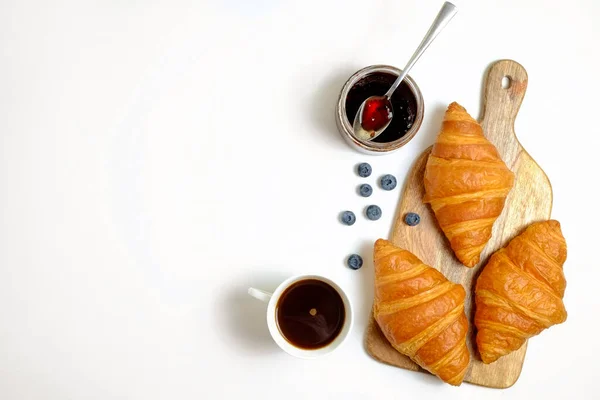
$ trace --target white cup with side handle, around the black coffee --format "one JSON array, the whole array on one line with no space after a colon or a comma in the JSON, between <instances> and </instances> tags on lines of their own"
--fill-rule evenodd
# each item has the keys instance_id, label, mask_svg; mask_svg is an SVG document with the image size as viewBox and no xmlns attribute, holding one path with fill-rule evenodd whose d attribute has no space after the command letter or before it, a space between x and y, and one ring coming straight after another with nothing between
<instances>
[{"instance_id":1,"label":"white cup with side handle, around the black coffee","mask_svg":"<svg viewBox=\"0 0 600 400\"><path fill-rule=\"evenodd\" d=\"M308 279L316 279L322 281L332 288L334 288L344 303L344 311L345 311L345 319L344 325L342 326L341 331L336 336L336 338L329 344L319 347L317 349L303 349L300 347L296 347L291 344L285 336L281 333L279 329L279 325L277 323L277 304L279 302L279 298L285 292L287 288L295 284L296 282L308 280ZM286 279L283 283L281 283L277 289L273 293L265 292L260 289L249 288L248 294L252 297L255 297L259 300L262 300L268 303L267 306L267 326L269 327L269 332L275 340L275 343L279 345L286 353L291 354L295 357L299 358L317 358L324 356L326 354L331 353L336 348L340 347L344 342L348 333L352 329L352 324L354 321L354 316L352 314L352 306L350 305L350 301L348 300L348 296L346 293L340 288L335 282L330 279L327 279L318 275L298 275L293 276L289 279Z\"/></svg>"}]
</instances>

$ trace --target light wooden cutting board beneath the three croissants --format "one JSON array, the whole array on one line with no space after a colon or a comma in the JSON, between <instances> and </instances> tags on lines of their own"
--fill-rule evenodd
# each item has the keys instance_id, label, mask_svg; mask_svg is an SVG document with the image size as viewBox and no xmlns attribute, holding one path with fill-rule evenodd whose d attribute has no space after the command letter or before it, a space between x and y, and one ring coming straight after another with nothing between
<instances>
[{"instance_id":1,"label":"light wooden cutting board beneath the three croissants","mask_svg":"<svg viewBox=\"0 0 600 400\"><path fill-rule=\"evenodd\" d=\"M505 77L509 80L507 88L503 88L502 83ZM504 211L494 224L492 238L481 255L482 262L474 268L467 268L458 262L429 205L422 202L425 193L423 173L431 147L419 156L408 174L390 238L395 245L411 251L424 263L437 268L448 279L465 287L465 311L470 321L467 343L471 352L471 366L465 382L493 388L507 388L517 381L523 367L527 344L492 364L485 365L481 362L474 347L475 279L494 251L504 247L531 222L549 219L552 209L550 181L521 146L514 131L515 118L526 89L527 72L517 62L501 60L489 68L484 84L483 117L480 123L486 137L498 148L506 165L515 173L516 181L506 199ZM406 225L403 218L407 212L421 215L421 223L415 227ZM366 348L369 354L379 361L404 369L423 371L408 357L394 350L382 335L373 316L367 329Z\"/></svg>"}]
</instances>

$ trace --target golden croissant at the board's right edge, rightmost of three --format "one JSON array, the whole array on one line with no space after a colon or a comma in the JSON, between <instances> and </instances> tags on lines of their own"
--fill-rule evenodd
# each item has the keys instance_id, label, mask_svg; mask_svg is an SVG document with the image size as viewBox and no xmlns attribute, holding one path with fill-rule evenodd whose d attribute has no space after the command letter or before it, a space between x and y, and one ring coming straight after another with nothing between
<instances>
[{"instance_id":1,"label":"golden croissant at the board's right edge, rightmost of three","mask_svg":"<svg viewBox=\"0 0 600 400\"><path fill-rule=\"evenodd\" d=\"M495 252L475 285L477 348L489 364L567 319L567 244L558 221L531 224Z\"/></svg>"}]
</instances>

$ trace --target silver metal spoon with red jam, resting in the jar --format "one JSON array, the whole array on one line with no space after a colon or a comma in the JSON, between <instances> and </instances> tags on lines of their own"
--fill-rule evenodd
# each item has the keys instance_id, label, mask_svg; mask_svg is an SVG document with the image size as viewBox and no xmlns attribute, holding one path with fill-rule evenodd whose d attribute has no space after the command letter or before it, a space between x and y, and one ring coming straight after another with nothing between
<instances>
[{"instance_id":1,"label":"silver metal spoon with red jam, resting in the jar","mask_svg":"<svg viewBox=\"0 0 600 400\"><path fill-rule=\"evenodd\" d=\"M402 73L394 81L387 93L383 96L371 96L361 104L352 125L357 138L366 141L373 140L392 122L392 118L394 117L394 109L390 101L392 94L394 94L394 91L400 86L417 60L457 12L458 8L454 4L445 2L437 17L435 17L433 24L431 24L429 31L427 31L427 34L423 38L423 41L417 47L408 64L406 64L406 67L404 67ZM367 109L366 116L365 107Z\"/></svg>"}]
</instances>

